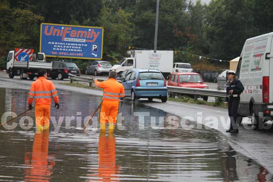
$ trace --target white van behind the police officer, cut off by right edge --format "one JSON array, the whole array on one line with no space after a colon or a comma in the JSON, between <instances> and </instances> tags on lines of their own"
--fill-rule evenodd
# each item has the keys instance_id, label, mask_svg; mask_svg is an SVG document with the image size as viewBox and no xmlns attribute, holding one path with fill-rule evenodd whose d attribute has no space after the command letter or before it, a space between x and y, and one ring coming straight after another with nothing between
<instances>
[{"instance_id":1,"label":"white van behind the police officer, cut off by right edge","mask_svg":"<svg viewBox=\"0 0 273 182\"><path fill-rule=\"evenodd\" d=\"M254 129L273 120L273 32L246 40L236 76L245 87L238 114ZM270 78L271 77L271 78Z\"/></svg>"}]
</instances>

